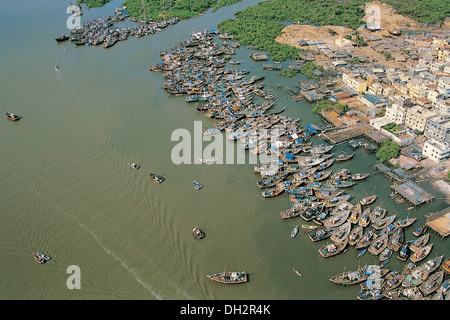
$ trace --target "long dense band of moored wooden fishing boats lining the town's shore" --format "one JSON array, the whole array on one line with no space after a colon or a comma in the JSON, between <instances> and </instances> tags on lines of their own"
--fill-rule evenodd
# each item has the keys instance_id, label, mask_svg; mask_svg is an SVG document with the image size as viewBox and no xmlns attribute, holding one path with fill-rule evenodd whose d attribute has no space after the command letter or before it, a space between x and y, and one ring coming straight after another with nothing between
<instances>
[{"instance_id":1,"label":"long dense band of moored wooden fishing boats lining the town's shore","mask_svg":"<svg viewBox=\"0 0 450 320\"><path fill-rule=\"evenodd\" d=\"M334 145L313 145L309 140L317 133L314 127L302 128L298 124L299 118L269 112L274 106L274 96L262 90L264 85L260 80L263 77L250 76L248 72L233 67L227 69L227 60L231 59L239 44L217 42L215 35L217 33L212 31L192 34L175 48L161 52L162 61L150 67L150 71L163 73L163 88L168 93L186 95L188 103L197 103L198 112L218 119L213 128L203 131L204 135L225 132L228 139L240 142L243 149L254 155L274 156L272 161L254 166L254 172L261 176L256 184L263 190L264 198L288 194L290 208L280 212L280 215L283 219L301 217L306 222L313 222L314 226L302 226L311 241L331 240L331 243L318 249L322 257L346 252L349 246L361 250L358 256L368 251L379 257L379 265L338 275L332 278L333 282L360 283L362 291L359 299L419 297L417 292L411 294L409 291L394 290L402 279L399 274L406 275L411 269L405 268L402 273L382 269L394 253L399 260L410 259L414 266L428 257L432 244L427 244L427 239L405 240L405 229L416 218L398 219L397 215L388 214L381 205L371 207L377 199L376 195L367 195L358 199L356 204L351 203L352 195L346 194L346 191L369 174L352 173L347 168L333 172L329 168L335 161L343 163L353 159L354 154L335 155ZM265 99L269 101L258 103L255 96L269 97ZM276 139L267 134L268 129L277 132ZM297 232L298 227L293 230L292 237ZM429 263L433 262L436 261ZM443 273L448 272L448 263L446 268L443 268ZM385 281L384 287L368 282L374 274L380 283ZM236 283L228 278L221 281L218 274L210 278L223 283ZM430 279L426 286L417 289L421 297L436 291L443 277ZM448 292L448 286L446 290ZM440 292L444 296L444 289Z\"/></svg>"}]
</instances>

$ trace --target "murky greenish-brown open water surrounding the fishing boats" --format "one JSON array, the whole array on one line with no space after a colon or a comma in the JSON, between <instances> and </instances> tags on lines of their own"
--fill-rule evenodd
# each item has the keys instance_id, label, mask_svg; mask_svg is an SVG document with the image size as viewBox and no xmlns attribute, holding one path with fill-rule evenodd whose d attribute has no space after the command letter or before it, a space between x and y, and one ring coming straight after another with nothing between
<instances>
[{"instance_id":1,"label":"murky greenish-brown open water surrounding the fishing boats","mask_svg":"<svg viewBox=\"0 0 450 320\"><path fill-rule=\"evenodd\" d=\"M121 4L84 10L82 21L105 17ZM189 34L216 29L219 21L255 1L182 21L162 32L104 49L56 43L68 33L70 1L15 0L0 11L0 105L2 112L22 116L0 121L0 298L2 299L355 299L358 287L340 287L328 279L378 257L366 253L323 259L300 229L301 218L283 221L287 195L264 199L255 185L253 165L175 165L171 141L175 129L193 132L214 120L198 114L184 97L161 89L161 73L148 68ZM120 24L119 24L120 26ZM301 125L321 124L311 107L295 102L286 88L300 80L263 71L250 51L236 59L251 75L266 76L265 91L278 96L274 110L301 117ZM55 70L55 65L60 67ZM322 143L321 140L315 140ZM347 145L335 152L350 152ZM127 162L137 162L131 170ZM368 172L375 155L356 151L351 162L334 164L352 172ZM166 181L156 184L149 171ZM203 189L196 191L192 181ZM388 214L406 217L407 204L389 200L391 182L381 174L348 192L351 202L376 193L375 204ZM445 207L437 200L410 212L422 225L423 215ZM374 204L374 205L375 205ZM300 219L300 220L297 220ZM194 240L192 226L205 231ZM406 229L412 239L413 227ZM449 255L445 240L432 232L430 256ZM49 254L45 265L32 251ZM81 289L66 286L67 268L81 271ZM403 268L394 256L386 266ZM292 272L297 268L299 278ZM245 270L249 282L227 286L206 275Z\"/></svg>"}]
</instances>

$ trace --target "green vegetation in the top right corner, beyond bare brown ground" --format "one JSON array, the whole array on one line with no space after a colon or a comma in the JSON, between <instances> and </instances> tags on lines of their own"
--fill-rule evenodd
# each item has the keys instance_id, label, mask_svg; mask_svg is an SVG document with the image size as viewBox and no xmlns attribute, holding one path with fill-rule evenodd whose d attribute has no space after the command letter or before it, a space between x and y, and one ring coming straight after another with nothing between
<instances>
[{"instance_id":1,"label":"green vegetation in the top right corner, beyond bare brown ground","mask_svg":"<svg viewBox=\"0 0 450 320\"><path fill-rule=\"evenodd\" d=\"M422 23L444 22L450 17L448 0L385 0L396 10L396 13Z\"/></svg>"}]
</instances>

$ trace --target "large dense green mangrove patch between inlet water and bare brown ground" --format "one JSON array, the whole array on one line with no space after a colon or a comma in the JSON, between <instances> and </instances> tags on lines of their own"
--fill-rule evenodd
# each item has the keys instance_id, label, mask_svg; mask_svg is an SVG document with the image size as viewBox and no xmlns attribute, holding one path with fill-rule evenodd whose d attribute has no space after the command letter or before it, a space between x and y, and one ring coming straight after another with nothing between
<instances>
[{"instance_id":1,"label":"large dense green mangrove patch between inlet water and bare brown ground","mask_svg":"<svg viewBox=\"0 0 450 320\"><path fill-rule=\"evenodd\" d=\"M243 45L255 45L275 61L295 60L301 51L275 42L285 23L342 25L356 29L364 22L363 1L266 0L235 13L236 19L218 24L222 32L232 34Z\"/></svg>"}]
</instances>

